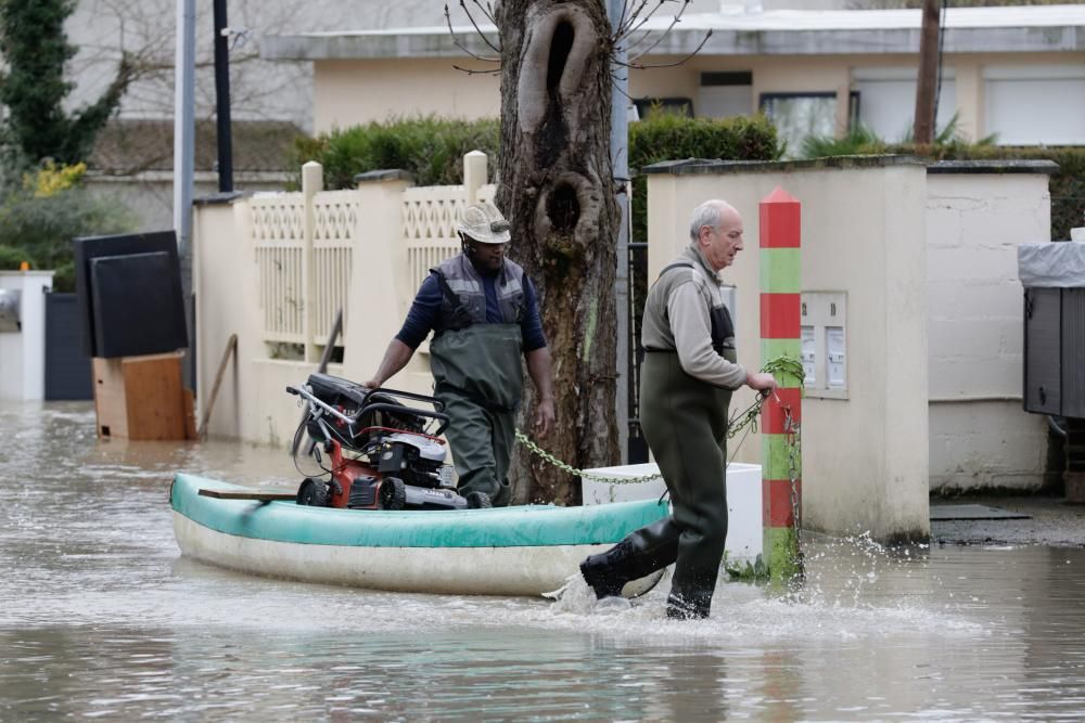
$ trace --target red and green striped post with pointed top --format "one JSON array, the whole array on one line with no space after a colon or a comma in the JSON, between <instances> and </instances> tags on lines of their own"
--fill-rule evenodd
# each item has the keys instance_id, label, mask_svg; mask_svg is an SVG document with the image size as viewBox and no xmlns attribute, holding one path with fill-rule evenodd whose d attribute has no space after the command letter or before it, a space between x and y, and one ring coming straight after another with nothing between
<instances>
[{"instance_id":1,"label":"red and green striped post with pointed top","mask_svg":"<svg viewBox=\"0 0 1085 723\"><path fill-rule=\"evenodd\" d=\"M777 188L761 202L761 360L801 362L801 204ZM774 580L801 572L799 550L802 378L777 374L778 398L762 406L763 559Z\"/></svg>"}]
</instances>

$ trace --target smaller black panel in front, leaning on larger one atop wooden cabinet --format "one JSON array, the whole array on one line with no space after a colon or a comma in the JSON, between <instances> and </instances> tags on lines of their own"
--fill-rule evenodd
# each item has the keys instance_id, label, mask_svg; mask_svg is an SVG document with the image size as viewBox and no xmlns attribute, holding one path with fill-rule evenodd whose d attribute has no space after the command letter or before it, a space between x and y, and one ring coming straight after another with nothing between
<instances>
[{"instance_id":1,"label":"smaller black panel in front, leaning on larger one atop wooden cabinet","mask_svg":"<svg viewBox=\"0 0 1085 723\"><path fill-rule=\"evenodd\" d=\"M90 260L95 356L156 354L188 346L181 295L169 293L176 258L154 251Z\"/></svg>"}]
</instances>

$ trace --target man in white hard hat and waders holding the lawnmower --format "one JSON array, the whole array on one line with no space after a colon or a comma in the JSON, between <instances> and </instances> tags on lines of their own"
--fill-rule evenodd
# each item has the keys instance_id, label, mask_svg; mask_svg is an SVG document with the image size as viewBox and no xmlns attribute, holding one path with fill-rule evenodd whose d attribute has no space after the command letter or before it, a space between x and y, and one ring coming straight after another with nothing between
<instances>
[{"instance_id":1,"label":"man in white hard hat and waders holding the lawnmower","mask_svg":"<svg viewBox=\"0 0 1085 723\"><path fill-rule=\"evenodd\" d=\"M383 385L433 331L434 395L450 417L445 435L459 492L473 507L505 506L515 412L524 389L521 357L538 396L535 432L545 436L553 426L550 350L535 287L506 258L509 222L501 212L493 204L473 204L456 230L463 251L430 269L403 328L365 386Z\"/></svg>"}]
</instances>

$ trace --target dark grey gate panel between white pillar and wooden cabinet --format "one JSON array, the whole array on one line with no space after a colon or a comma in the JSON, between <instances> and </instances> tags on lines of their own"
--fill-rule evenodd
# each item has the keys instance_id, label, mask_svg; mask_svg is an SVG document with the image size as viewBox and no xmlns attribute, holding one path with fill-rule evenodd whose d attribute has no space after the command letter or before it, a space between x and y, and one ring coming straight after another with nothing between
<instances>
[{"instance_id":1,"label":"dark grey gate panel between white pillar and wooden cabinet","mask_svg":"<svg viewBox=\"0 0 1085 723\"><path fill-rule=\"evenodd\" d=\"M75 294L46 295L46 399L93 399L93 370L82 350Z\"/></svg>"}]
</instances>

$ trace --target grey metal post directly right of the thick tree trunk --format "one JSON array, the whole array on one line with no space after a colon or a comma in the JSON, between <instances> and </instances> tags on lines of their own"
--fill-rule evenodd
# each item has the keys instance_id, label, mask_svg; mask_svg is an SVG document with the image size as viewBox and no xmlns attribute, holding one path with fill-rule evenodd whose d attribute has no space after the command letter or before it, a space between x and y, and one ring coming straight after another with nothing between
<instances>
[{"instance_id":1,"label":"grey metal post directly right of the thick tree trunk","mask_svg":"<svg viewBox=\"0 0 1085 723\"><path fill-rule=\"evenodd\" d=\"M608 0L607 14L615 30L625 11L626 0ZM617 419L617 444L623 462L629 454L629 397L626 380L629 375L629 125L626 102L629 93L629 69L623 65L626 49L622 43L614 48L615 78L611 89L611 160L614 164L614 185L621 222L617 230L617 268L614 273L615 311L617 313L617 384L614 395L614 415Z\"/></svg>"}]
</instances>

